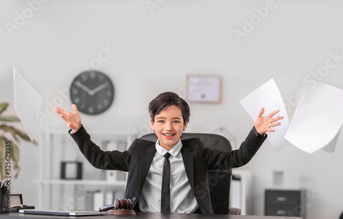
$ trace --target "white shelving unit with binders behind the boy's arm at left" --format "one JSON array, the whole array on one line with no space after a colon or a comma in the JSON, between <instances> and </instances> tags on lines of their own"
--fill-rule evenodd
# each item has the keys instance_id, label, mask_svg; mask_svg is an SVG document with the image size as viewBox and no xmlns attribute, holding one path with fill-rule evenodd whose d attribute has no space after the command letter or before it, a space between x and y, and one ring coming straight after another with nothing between
<instances>
[{"instance_id":1,"label":"white shelving unit with binders behind the boy's arm at left","mask_svg":"<svg viewBox=\"0 0 343 219\"><path fill-rule=\"evenodd\" d=\"M136 138L134 133L130 132L88 133L93 142L104 151L112 150L116 145L119 151L124 151ZM38 209L92 210L89 203L93 200L94 192L112 193L114 198L123 198L121 196L125 191L127 173L99 170L91 166L69 136L68 130L47 129L42 133L41 142L40 179L35 181L39 185ZM112 149L108 148L110 145ZM60 179L61 162L71 161L82 162L82 179ZM115 194L121 196L117 197ZM108 201L108 198L106 200Z\"/></svg>"}]
</instances>

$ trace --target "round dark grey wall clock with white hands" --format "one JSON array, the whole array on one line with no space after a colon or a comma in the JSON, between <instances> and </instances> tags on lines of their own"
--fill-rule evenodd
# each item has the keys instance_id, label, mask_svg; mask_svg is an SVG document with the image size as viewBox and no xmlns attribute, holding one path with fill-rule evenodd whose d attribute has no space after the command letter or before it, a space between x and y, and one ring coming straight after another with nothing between
<instances>
[{"instance_id":1,"label":"round dark grey wall clock with white hands","mask_svg":"<svg viewBox=\"0 0 343 219\"><path fill-rule=\"evenodd\" d=\"M114 96L115 89L110 78L96 70L80 73L71 83L71 102L86 114L95 115L106 111Z\"/></svg>"}]
</instances>

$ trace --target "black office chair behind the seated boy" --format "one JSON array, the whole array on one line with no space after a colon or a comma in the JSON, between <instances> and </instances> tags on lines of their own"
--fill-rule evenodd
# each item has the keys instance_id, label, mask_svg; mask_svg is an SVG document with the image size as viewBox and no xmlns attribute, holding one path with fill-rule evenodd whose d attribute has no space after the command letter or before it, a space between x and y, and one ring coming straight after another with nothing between
<instances>
[{"instance_id":1,"label":"black office chair behind the seated boy","mask_svg":"<svg viewBox=\"0 0 343 219\"><path fill-rule=\"evenodd\" d=\"M222 151L232 150L230 142L224 136L211 133L182 133L181 139L187 138L199 138L205 147L208 146L211 147L211 149ZM156 142L157 136L155 133L149 133L142 136L141 139ZM214 214L241 214L241 211L238 208L232 207L228 209L231 177L231 169L209 170L209 187Z\"/></svg>"}]
</instances>

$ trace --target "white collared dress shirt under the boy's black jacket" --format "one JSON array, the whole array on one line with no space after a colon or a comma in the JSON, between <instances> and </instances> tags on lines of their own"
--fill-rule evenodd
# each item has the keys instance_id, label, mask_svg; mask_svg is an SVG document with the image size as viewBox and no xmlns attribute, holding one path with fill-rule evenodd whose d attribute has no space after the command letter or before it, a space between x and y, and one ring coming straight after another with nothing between
<instances>
[{"instance_id":1,"label":"white collared dress shirt under the boy's black jacket","mask_svg":"<svg viewBox=\"0 0 343 219\"><path fill-rule=\"evenodd\" d=\"M156 153L139 198L139 209L143 212L161 212L161 188L164 155L169 152L170 162L170 212L193 213L198 203L191 190L181 154L181 140L173 149L167 151L156 142Z\"/></svg>"}]
</instances>

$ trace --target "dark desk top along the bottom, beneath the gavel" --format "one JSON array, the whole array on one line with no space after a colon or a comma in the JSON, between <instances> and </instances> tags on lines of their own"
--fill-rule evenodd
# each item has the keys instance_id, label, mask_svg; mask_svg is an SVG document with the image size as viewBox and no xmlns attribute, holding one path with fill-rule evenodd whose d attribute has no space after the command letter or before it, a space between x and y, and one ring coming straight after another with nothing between
<instances>
[{"instance_id":1,"label":"dark desk top along the bottom, beneath the gavel","mask_svg":"<svg viewBox=\"0 0 343 219\"><path fill-rule=\"evenodd\" d=\"M297 217L279 217L279 216L245 216L245 215L225 215L225 214L160 214L160 213L143 213L137 212L134 216L43 216L35 214L19 214L16 212L11 212L10 214L0 214L0 218L8 219L23 219L23 218L40 218L40 219L53 219L53 218L82 218L82 219L110 219L110 218L120 218L120 219L207 219L207 218L217 218L217 219L301 219Z\"/></svg>"}]
</instances>

